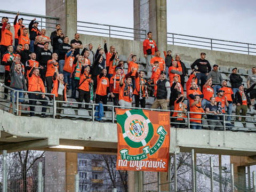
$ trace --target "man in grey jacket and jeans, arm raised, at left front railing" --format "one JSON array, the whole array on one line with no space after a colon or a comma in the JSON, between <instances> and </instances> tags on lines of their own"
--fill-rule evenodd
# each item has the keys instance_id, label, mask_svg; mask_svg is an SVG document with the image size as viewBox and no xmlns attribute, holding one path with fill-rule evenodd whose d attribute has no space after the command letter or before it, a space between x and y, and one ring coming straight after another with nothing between
<instances>
[{"instance_id":1,"label":"man in grey jacket and jeans, arm raised, at left front railing","mask_svg":"<svg viewBox=\"0 0 256 192\"><path fill-rule=\"evenodd\" d=\"M20 62L20 55L17 55L12 62L12 67L10 69L10 76L11 76L11 88L17 91L27 91L27 86L26 86L26 81L25 77L22 73L22 67ZM17 92L15 92L14 97L13 96L13 91L11 91L11 102L17 101ZM27 93L25 93L26 95ZM19 92L19 103L23 103L23 92ZM12 103L10 104L10 113L12 113ZM19 105L19 116L21 116L21 105Z\"/></svg>"}]
</instances>

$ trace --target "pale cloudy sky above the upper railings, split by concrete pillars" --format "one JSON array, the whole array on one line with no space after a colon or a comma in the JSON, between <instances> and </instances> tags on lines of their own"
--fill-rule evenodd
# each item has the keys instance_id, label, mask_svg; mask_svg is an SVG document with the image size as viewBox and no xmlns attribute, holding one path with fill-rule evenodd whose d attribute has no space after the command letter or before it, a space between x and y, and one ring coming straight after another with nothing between
<instances>
[{"instance_id":1,"label":"pale cloudy sky above the upper railings, split by concrete pillars","mask_svg":"<svg viewBox=\"0 0 256 192\"><path fill-rule=\"evenodd\" d=\"M45 0L1 0L1 5L45 15ZM77 0L77 5L79 21L133 28L133 0ZM167 0L167 32L256 44L255 10L254 0Z\"/></svg>"}]
</instances>

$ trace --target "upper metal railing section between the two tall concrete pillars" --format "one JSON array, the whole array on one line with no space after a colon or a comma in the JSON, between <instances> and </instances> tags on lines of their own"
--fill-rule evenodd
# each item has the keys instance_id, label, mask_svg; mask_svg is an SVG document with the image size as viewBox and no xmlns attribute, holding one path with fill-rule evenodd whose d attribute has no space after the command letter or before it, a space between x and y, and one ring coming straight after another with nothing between
<instances>
[{"instance_id":1,"label":"upper metal railing section between the two tall concrete pillars","mask_svg":"<svg viewBox=\"0 0 256 192\"><path fill-rule=\"evenodd\" d=\"M146 30L129 27L113 26L100 23L77 21L77 31L87 35L100 35L106 37L146 39Z\"/></svg>"}]
</instances>

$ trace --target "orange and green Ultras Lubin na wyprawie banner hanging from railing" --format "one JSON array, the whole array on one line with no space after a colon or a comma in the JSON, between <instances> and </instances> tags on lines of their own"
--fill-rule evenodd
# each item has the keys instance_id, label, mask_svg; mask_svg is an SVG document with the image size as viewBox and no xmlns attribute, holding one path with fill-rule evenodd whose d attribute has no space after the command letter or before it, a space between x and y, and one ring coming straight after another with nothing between
<instances>
[{"instance_id":1,"label":"orange and green Ultras Lubin na wyprawie banner hanging from railing","mask_svg":"<svg viewBox=\"0 0 256 192\"><path fill-rule=\"evenodd\" d=\"M168 172L170 112L116 108L117 170Z\"/></svg>"}]
</instances>

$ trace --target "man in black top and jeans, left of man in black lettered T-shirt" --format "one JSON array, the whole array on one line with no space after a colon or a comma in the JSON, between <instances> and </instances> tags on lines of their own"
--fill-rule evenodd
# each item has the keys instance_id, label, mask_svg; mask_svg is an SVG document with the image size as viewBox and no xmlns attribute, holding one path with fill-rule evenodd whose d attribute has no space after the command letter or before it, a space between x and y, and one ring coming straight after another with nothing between
<instances>
[{"instance_id":1,"label":"man in black top and jeans, left of man in black lettered T-shirt","mask_svg":"<svg viewBox=\"0 0 256 192\"><path fill-rule=\"evenodd\" d=\"M63 74L63 67L65 65L65 55L68 50L71 49L71 45L68 44L68 36L63 38L63 43L59 45L59 73Z\"/></svg>"}]
</instances>

